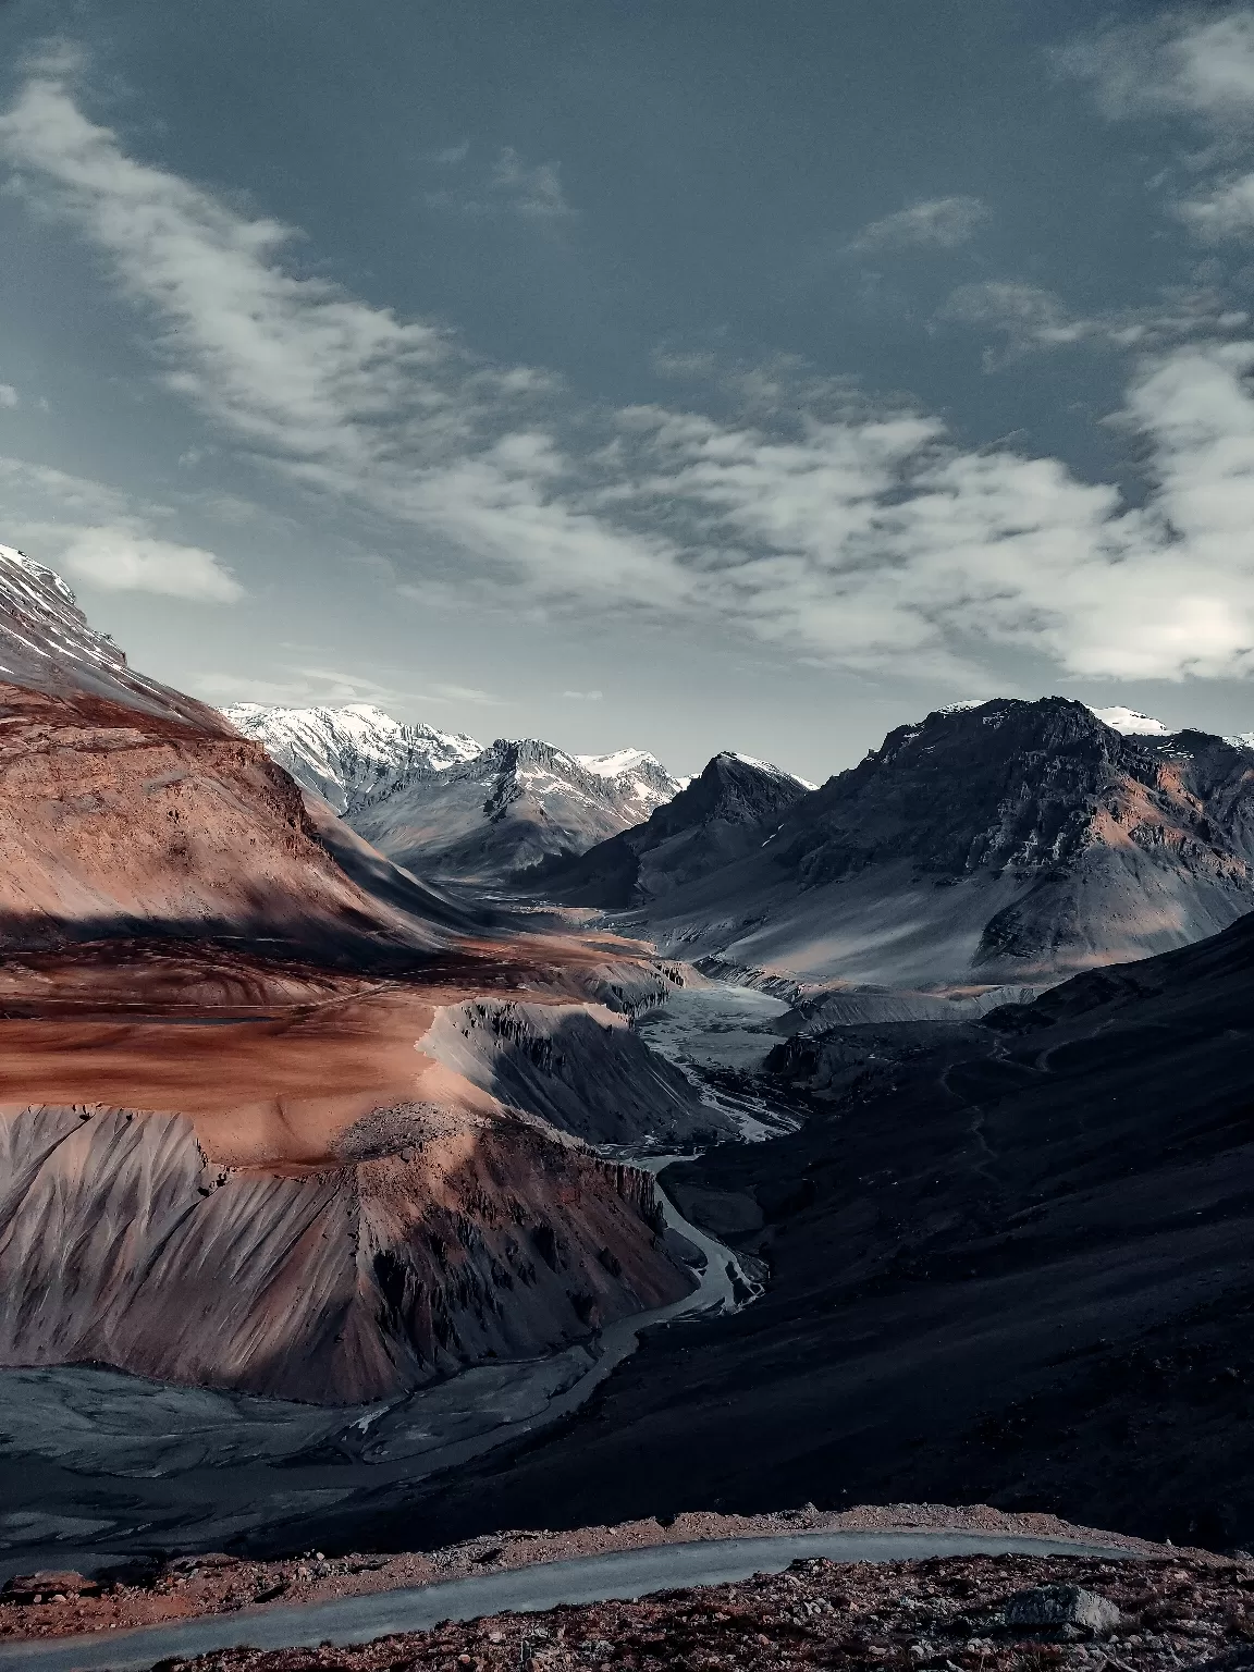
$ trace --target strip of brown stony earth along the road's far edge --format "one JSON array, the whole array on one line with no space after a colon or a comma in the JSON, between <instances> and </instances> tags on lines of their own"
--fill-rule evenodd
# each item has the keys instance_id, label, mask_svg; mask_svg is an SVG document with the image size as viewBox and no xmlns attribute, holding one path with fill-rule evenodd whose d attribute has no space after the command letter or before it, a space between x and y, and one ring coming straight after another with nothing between
<instances>
[{"instance_id":1,"label":"strip of brown stony earth along the road's far edge","mask_svg":"<svg viewBox=\"0 0 1254 1672\"><path fill-rule=\"evenodd\" d=\"M762 1538L798 1532L883 1532L886 1528L945 1528L1025 1533L1038 1538L1100 1540L1124 1545L1144 1562L1187 1562L1197 1572L1227 1572L1232 1563L1202 1550L1170 1550L1119 1533L1072 1527L1053 1515L1005 1515L986 1505L896 1503L863 1505L841 1513L813 1506L774 1515L677 1515L580 1527L565 1532L502 1532L433 1552L396 1555L349 1553L328 1558L306 1552L283 1562L249 1562L227 1555L186 1557L119 1567L85 1580L75 1573L25 1575L0 1592L0 1637L62 1637L79 1632L125 1630L167 1620L232 1613L293 1603L329 1602L373 1592L428 1585L473 1573L568 1562L615 1550L644 1550L711 1538ZM905 1563L913 1568L918 1563ZM874 1572L868 1568L866 1572ZM1242 1570L1244 1572L1244 1570ZM38 1600L35 1600L38 1597ZM17 1600L22 1598L22 1600ZM609 1605L607 1605L609 1607ZM617 1605L615 1605L617 1607ZM373 1665L373 1662L371 1662Z\"/></svg>"}]
</instances>

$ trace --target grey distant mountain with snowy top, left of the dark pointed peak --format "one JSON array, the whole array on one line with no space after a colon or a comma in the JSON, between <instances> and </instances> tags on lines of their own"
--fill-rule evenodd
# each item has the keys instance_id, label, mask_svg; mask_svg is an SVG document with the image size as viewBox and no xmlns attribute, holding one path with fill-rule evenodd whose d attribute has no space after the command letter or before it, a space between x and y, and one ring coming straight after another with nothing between
<instances>
[{"instance_id":1,"label":"grey distant mountain with snowy top, left of the dark pointed peak","mask_svg":"<svg viewBox=\"0 0 1254 1672\"><path fill-rule=\"evenodd\" d=\"M503 881L584 853L647 818L681 788L650 754L577 757L533 737L416 771L349 814L390 859L425 876Z\"/></svg>"}]
</instances>

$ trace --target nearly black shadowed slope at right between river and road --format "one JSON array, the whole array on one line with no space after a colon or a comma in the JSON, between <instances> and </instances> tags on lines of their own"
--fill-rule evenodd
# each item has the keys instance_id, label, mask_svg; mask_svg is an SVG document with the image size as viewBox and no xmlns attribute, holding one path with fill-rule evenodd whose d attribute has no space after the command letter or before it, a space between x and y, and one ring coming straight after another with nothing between
<instances>
[{"instance_id":1,"label":"nearly black shadowed slope at right between river and road","mask_svg":"<svg viewBox=\"0 0 1254 1672\"><path fill-rule=\"evenodd\" d=\"M1247 918L990 1025L788 1042L808 1125L667 1174L767 1294L423 1525L931 1500L1249 1543L1252 1018Z\"/></svg>"}]
</instances>

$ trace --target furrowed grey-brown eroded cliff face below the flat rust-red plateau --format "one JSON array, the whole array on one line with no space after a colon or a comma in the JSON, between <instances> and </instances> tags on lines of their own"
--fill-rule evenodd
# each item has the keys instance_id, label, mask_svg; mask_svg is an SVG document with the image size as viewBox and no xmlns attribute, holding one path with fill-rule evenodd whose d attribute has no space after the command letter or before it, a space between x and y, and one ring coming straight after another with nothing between
<instances>
[{"instance_id":1,"label":"furrowed grey-brown eroded cliff face below the flat rust-red plateau","mask_svg":"<svg viewBox=\"0 0 1254 1672\"><path fill-rule=\"evenodd\" d=\"M361 1403L691 1287L652 1179L522 1119L395 1109L339 1149L232 1169L187 1115L0 1110L0 1361Z\"/></svg>"}]
</instances>

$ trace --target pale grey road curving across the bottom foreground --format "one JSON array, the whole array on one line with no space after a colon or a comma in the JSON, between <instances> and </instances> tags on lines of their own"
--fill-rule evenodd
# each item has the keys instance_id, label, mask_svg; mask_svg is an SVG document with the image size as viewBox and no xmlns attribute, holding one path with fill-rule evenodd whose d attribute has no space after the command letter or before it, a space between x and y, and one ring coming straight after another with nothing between
<instances>
[{"instance_id":1,"label":"pale grey road curving across the bottom foreground","mask_svg":"<svg viewBox=\"0 0 1254 1672\"><path fill-rule=\"evenodd\" d=\"M211 1650L247 1644L254 1649L359 1644L390 1632L425 1632L440 1620L475 1620L487 1613L535 1612L558 1602L605 1602L610 1597L644 1597L682 1585L726 1585L754 1573L779 1573L798 1557L833 1562L901 1562L956 1555L1072 1555L1129 1557L1114 1545L1062 1538L1025 1538L998 1533L941 1533L928 1530L884 1533L784 1533L774 1538L726 1538L692 1545L654 1545L577 1562L543 1562L505 1573L483 1573L388 1590L373 1597L346 1597L306 1607L147 1625L135 1632L104 1632L0 1645L0 1672L20 1667L37 1672L114 1669L142 1672L167 1655L191 1659Z\"/></svg>"}]
</instances>

